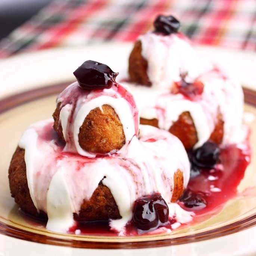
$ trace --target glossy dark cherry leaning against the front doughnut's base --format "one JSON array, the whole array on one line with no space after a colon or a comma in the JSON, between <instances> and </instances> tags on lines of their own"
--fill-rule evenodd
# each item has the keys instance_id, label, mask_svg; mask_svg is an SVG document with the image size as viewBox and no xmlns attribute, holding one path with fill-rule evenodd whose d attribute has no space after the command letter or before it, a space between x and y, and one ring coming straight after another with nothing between
<instances>
[{"instance_id":1,"label":"glossy dark cherry leaning against the front doughnut's base","mask_svg":"<svg viewBox=\"0 0 256 256\"><path fill-rule=\"evenodd\" d=\"M132 222L138 229L154 230L166 225L168 219L169 208L160 193L153 193L135 201Z\"/></svg>"}]
</instances>

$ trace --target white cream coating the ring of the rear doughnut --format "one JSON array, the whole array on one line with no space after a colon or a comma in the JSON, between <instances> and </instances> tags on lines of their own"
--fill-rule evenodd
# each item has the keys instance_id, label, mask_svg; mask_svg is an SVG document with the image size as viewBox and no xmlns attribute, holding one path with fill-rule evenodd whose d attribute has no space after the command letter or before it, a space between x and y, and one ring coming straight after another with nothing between
<instances>
[{"instance_id":1,"label":"white cream coating the ring of the rear doughnut","mask_svg":"<svg viewBox=\"0 0 256 256\"><path fill-rule=\"evenodd\" d=\"M172 94L170 88L168 91L166 88L124 84L129 85L138 102L140 116L146 119L156 118L161 129L169 130L183 111L189 111L198 136L195 148L209 139L215 128L218 111L224 121L223 144L243 140L244 98L241 85L231 74L224 73L215 66L198 79L204 84L204 91L194 100L185 98L181 93Z\"/></svg>"}]
</instances>

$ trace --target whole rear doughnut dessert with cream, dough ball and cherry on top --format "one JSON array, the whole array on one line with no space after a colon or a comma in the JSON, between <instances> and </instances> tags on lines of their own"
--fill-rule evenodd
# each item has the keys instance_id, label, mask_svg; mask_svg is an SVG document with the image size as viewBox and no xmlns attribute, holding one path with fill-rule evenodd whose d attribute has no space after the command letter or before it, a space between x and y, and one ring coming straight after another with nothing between
<instances>
[{"instance_id":1,"label":"whole rear doughnut dessert with cream, dough ball and cherry on top","mask_svg":"<svg viewBox=\"0 0 256 256\"><path fill-rule=\"evenodd\" d=\"M141 123L178 136L186 150L206 141L242 139L243 90L230 74L199 58L179 21L160 15L139 36L129 58L128 83Z\"/></svg>"}]
</instances>

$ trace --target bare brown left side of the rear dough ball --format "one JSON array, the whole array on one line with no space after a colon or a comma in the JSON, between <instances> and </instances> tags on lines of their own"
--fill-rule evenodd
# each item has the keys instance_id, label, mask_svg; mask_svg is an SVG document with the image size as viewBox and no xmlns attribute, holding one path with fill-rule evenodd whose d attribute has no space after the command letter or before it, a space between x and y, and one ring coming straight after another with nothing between
<instances>
[{"instance_id":1,"label":"bare brown left side of the rear dough ball","mask_svg":"<svg viewBox=\"0 0 256 256\"><path fill-rule=\"evenodd\" d=\"M151 86L147 70L148 62L141 55L141 41L136 41L129 57L128 72L130 80L134 83Z\"/></svg>"}]
</instances>

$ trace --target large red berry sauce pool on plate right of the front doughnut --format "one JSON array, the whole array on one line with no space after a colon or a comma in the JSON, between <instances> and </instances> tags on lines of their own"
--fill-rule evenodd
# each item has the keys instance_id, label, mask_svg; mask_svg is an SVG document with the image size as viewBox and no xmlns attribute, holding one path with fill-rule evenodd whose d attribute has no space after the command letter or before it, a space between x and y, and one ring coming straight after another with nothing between
<instances>
[{"instance_id":1,"label":"large red berry sauce pool on plate right of the front doughnut","mask_svg":"<svg viewBox=\"0 0 256 256\"><path fill-rule=\"evenodd\" d=\"M224 204L237 195L237 186L250 163L250 146L246 149L228 145L220 149L219 163L213 167L197 167L191 164L192 175L179 200L180 206L195 212L195 218L221 210ZM218 211L217 211L218 212Z\"/></svg>"}]
</instances>

